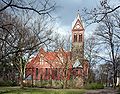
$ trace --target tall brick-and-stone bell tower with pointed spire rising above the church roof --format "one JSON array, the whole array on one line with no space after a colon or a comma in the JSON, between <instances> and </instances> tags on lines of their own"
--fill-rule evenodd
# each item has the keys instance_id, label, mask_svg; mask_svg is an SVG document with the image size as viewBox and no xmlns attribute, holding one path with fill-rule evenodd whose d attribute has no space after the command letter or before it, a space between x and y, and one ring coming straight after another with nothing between
<instances>
[{"instance_id":1,"label":"tall brick-and-stone bell tower with pointed spire rising above the church roof","mask_svg":"<svg viewBox=\"0 0 120 94\"><path fill-rule=\"evenodd\" d=\"M78 11L77 17L72 23L72 61L84 59L84 28Z\"/></svg>"}]
</instances>

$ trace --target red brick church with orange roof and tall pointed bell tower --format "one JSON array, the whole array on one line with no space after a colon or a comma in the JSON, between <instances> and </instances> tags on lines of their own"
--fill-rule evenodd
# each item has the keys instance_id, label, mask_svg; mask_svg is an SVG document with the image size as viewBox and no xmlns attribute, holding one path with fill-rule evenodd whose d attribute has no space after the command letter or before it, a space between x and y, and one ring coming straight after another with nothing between
<instances>
[{"instance_id":1,"label":"red brick church with orange roof and tall pointed bell tower","mask_svg":"<svg viewBox=\"0 0 120 94\"><path fill-rule=\"evenodd\" d=\"M88 76L88 60L84 58L84 27L80 14L72 23L71 51L58 49L48 52L40 48L37 55L26 65L25 77L33 81L73 82L75 87L82 87ZM72 79L72 80L71 80Z\"/></svg>"}]
</instances>

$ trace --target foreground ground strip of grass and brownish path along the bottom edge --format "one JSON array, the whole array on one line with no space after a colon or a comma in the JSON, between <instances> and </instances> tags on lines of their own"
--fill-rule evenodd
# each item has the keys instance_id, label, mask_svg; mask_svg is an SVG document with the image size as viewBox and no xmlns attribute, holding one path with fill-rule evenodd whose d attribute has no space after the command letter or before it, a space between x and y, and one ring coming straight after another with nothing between
<instances>
[{"instance_id":1,"label":"foreground ground strip of grass and brownish path along the bottom edge","mask_svg":"<svg viewBox=\"0 0 120 94\"><path fill-rule=\"evenodd\" d=\"M45 89L0 87L0 94L120 94L114 89L85 90L85 89Z\"/></svg>"}]
</instances>

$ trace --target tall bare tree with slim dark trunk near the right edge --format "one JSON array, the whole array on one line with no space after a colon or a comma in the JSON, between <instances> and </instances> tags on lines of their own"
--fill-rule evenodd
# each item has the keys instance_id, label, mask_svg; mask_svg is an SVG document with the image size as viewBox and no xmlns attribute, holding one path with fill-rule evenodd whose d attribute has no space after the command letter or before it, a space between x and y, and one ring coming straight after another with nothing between
<instances>
[{"instance_id":1,"label":"tall bare tree with slim dark trunk near the right edge","mask_svg":"<svg viewBox=\"0 0 120 94\"><path fill-rule=\"evenodd\" d=\"M108 15L104 20L100 23L99 27L96 30L96 36L99 38L99 44L101 48L104 49L104 53L107 53L108 57L100 56L107 62L111 62L113 65L114 72L114 86L116 87L116 77L117 77L117 67L118 62L116 62L119 52L120 52L120 43L119 36L120 33L116 32L119 30L118 27L115 26L116 18L112 15Z\"/></svg>"}]
</instances>

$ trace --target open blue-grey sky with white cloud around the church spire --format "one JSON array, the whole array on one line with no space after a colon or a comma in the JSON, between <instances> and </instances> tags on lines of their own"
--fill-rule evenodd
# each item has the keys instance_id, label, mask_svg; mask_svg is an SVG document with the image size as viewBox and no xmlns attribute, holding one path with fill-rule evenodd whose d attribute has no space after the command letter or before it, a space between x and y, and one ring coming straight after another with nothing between
<instances>
[{"instance_id":1,"label":"open blue-grey sky with white cloud around the church spire","mask_svg":"<svg viewBox=\"0 0 120 94\"><path fill-rule=\"evenodd\" d=\"M72 22L77 16L78 10L82 19L82 9L92 9L98 5L98 1L99 0L55 0L56 5L58 6L54 14L58 17L56 21L57 32L63 35L70 33ZM94 31L95 28L93 27L95 26L85 28L84 24L85 36Z\"/></svg>"}]
</instances>

